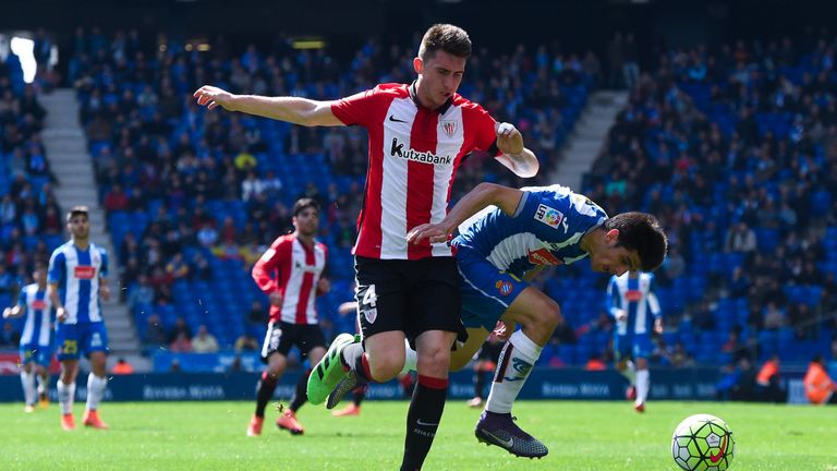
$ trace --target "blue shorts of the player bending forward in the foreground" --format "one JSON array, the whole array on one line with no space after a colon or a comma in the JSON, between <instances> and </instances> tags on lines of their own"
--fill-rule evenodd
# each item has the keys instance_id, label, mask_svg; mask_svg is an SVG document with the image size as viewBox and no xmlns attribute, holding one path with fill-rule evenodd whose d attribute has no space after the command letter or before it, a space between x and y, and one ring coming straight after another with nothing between
<instances>
[{"instance_id":1,"label":"blue shorts of the player bending forward in the foreground","mask_svg":"<svg viewBox=\"0 0 837 471\"><path fill-rule=\"evenodd\" d=\"M465 328L494 330L497 321L529 283L465 246L457 247L457 265L462 277L462 324Z\"/></svg>"}]
</instances>

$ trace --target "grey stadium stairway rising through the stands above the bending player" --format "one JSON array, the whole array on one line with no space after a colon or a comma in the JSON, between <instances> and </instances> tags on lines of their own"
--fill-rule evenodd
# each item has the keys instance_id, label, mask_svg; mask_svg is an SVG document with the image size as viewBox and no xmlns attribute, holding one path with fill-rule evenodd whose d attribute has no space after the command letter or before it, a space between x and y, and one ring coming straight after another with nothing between
<instances>
[{"instance_id":1,"label":"grey stadium stairway rising through the stands above the bending player","mask_svg":"<svg viewBox=\"0 0 837 471\"><path fill-rule=\"evenodd\" d=\"M549 182L582 191L582 178L589 172L605 145L616 116L628 104L628 92L599 90L590 96L575 128L567 138L561 158L549 172Z\"/></svg>"}]
</instances>

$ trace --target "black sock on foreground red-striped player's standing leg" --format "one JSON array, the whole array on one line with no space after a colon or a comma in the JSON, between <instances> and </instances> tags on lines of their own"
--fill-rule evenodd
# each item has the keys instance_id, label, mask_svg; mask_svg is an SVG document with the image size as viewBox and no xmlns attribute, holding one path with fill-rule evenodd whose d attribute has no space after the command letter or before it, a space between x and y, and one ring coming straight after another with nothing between
<instances>
[{"instance_id":1,"label":"black sock on foreground red-striped player's standing leg","mask_svg":"<svg viewBox=\"0 0 837 471\"><path fill-rule=\"evenodd\" d=\"M418 384L407 413L407 438L401 471L422 469L430 451L436 430L439 427L445 399L448 396L448 379L418 375Z\"/></svg>"}]
</instances>

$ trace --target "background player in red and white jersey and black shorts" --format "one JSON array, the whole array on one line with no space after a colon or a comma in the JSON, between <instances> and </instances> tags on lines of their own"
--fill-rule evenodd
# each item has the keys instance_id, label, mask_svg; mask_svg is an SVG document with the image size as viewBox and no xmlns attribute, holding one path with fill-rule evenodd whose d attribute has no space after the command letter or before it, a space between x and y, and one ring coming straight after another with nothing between
<instances>
[{"instance_id":1,"label":"background player in red and white jersey and black shorts","mask_svg":"<svg viewBox=\"0 0 837 471\"><path fill-rule=\"evenodd\" d=\"M247 435L262 434L265 407L288 366L288 352L296 346L303 359L316 364L326 353L326 338L319 329L316 297L329 291L323 273L328 250L314 237L319 230L319 204L311 198L293 205L293 233L281 235L253 266L253 279L270 300L270 321L262 346L262 361L267 369L256 387L256 412L250 420ZM307 400L305 388L311 369L296 383L291 404L276 420L279 428L292 435L305 432L296 411Z\"/></svg>"}]
</instances>

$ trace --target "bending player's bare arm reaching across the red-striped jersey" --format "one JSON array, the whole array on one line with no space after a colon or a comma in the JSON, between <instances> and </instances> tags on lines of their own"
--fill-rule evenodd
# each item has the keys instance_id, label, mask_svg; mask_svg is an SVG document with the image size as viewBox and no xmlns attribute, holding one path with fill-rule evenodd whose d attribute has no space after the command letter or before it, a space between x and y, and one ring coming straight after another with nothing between
<instances>
[{"instance_id":1,"label":"bending player's bare arm reaching across the red-striped jersey","mask_svg":"<svg viewBox=\"0 0 837 471\"><path fill-rule=\"evenodd\" d=\"M466 195L462 196L462 200L453 206L453 209L448 213L448 216L441 222L414 227L407 234L407 241L408 243L418 243L428 239L430 243L445 242L462 221L488 205L495 205L507 215L513 216L518 209L521 196L523 196L523 192L517 189L495 183L480 183Z\"/></svg>"}]
</instances>

